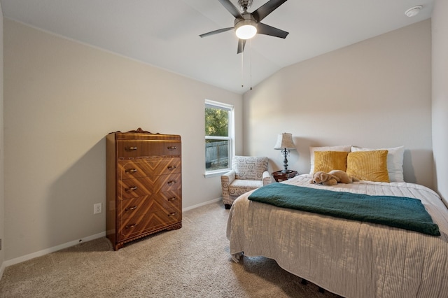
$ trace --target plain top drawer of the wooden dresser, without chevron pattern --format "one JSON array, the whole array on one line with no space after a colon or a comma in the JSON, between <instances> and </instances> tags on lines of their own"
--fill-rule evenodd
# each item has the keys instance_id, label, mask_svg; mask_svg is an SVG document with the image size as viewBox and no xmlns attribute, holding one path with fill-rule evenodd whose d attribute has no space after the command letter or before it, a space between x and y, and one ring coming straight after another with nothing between
<instances>
[{"instance_id":1,"label":"plain top drawer of the wooden dresser, without chevron pattern","mask_svg":"<svg viewBox=\"0 0 448 298\"><path fill-rule=\"evenodd\" d=\"M180 156L180 141L118 140L117 157L135 158L144 156Z\"/></svg>"}]
</instances>

